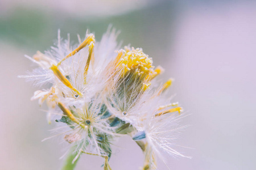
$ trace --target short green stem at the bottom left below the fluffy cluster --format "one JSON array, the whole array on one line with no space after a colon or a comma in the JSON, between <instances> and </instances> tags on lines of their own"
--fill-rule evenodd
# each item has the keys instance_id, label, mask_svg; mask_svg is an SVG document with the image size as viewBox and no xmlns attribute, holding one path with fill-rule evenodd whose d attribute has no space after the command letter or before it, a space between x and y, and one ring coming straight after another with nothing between
<instances>
[{"instance_id":1,"label":"short green stem at the bottom left below the fluffy cluster","mask_svg":"<svg viewBox=\"0 0 256 170\"><path fill-rule=\"evenodd\" d=\"M61 170L73 170L73 169L75 169L76 163L77 163L77 161L80 158L80 156L79 156L79 158L77 158L76 161L74 163L72 163L73 160L75 159L76 155L77 155L77 151L75 151L76 147L77 147L76 145L73 145L70 148L70 150L68 152L68 155L66 156L65 162L64 162L63 167L61 168Z\"/></svg>"}]
</instances>

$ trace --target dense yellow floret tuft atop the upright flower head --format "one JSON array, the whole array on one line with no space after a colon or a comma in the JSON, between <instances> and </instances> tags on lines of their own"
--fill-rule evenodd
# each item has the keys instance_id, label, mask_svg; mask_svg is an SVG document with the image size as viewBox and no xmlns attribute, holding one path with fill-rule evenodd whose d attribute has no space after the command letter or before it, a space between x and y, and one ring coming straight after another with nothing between
<instances>
[{"instance_id":1,"label":"dense yellow floret tuft atop the upright flower head","mask_svg":"<svg viewBox=\"0 0 256 170\"><path fill-rule=\"evenodd\" d=\"M125 74L130 70L135 70L138 75L148 75L153 72L152 58L148 58L141 48L131 48L131 50L126 48L119 60L119 66L124 69Z\"/></svg>"}]
</instances>

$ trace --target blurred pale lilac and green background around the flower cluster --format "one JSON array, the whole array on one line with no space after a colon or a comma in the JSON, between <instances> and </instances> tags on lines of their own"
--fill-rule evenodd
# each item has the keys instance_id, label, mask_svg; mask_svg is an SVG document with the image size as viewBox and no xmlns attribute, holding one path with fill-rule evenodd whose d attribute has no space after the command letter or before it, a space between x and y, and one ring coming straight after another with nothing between
<instances>
[{"instance_id":1,"label":"blurred pale lilac and green background around the flower cluster","mask_svg":"<svg viewBox=\"0 0 256 170\"><path fill-rule=\"evenodd\" d=\"M0 1L0 169L59 169L63 144L50 139L46 114L30 97L38 87L17 78L32 69L24 54L61 36L77 43L86 29L100 41L109 24L122 45L141 47L175 79L170 94L187 114L171 169L256 169L256 1ZM139 169L143 154L129 138L116 143L113 170ZM129 149L127 149L129 148ZM78 169L102 169L82 156ZM162 162L158 169L168 169Z\"/></svg>"}]
</instances>

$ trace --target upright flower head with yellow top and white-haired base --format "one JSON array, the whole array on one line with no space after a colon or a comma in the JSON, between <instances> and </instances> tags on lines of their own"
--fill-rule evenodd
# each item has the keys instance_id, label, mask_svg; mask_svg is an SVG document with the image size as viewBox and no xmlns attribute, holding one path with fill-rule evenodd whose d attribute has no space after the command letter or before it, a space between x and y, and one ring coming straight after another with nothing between
<instances>
[{"instance_id":1,"label":"upright flower head with yellow top and white-haired base","mask_svg":"<svg viewBox=\"0 0 256 170\"><path fill-rule=\"evenodd\" d=\"M118 51L113 64L113 76L107 84L105 104L109 111L131 125L139 122L143 99L148 96L150 80L154 73L152 59L141 48L125 47ZM147 97L144 97L147 96Z\"/></svg>"}]
</instances>

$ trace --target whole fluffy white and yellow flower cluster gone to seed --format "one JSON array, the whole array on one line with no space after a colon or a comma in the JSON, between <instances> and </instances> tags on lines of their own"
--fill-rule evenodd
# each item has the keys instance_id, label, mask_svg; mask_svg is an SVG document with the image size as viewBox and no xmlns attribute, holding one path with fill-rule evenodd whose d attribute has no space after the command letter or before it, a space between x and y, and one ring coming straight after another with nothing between
<instances>
[{"instance_id":1,"label":"whole fluffy white and yellow flower cluster gone to seed","mask_svg":"<svg viewBox=\"0 0 256 170\"><path fill-rule=\"evenodd\" d=\"M117 34L109 27L97 42L86 32L84 41L79 36L80 45L72 46L69 36L62 40L59 32L51 50L25 56L39 67L21 77L50 87L36 91L31 100L38 99L39 105L46 101L48 122L55 118L63 125L52 137L62 135L75 146L72 163L82 153L97 155L104 158L104 169L111 169L111 145L123 135L142 148L144 169L156 168L155 155L185 157L172 148L176 132L185 126L179 126L181 117L171 113L180 114L182 109L166 103L163 95L172 79L159 85L155 78L163 68L154 67L141 48L120 49Z\"/></svg>"}]
</instances>

